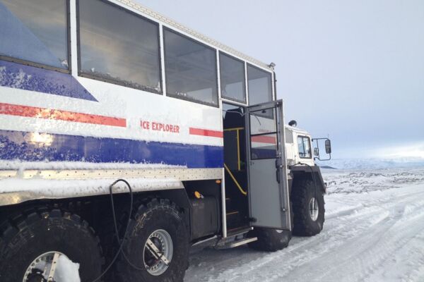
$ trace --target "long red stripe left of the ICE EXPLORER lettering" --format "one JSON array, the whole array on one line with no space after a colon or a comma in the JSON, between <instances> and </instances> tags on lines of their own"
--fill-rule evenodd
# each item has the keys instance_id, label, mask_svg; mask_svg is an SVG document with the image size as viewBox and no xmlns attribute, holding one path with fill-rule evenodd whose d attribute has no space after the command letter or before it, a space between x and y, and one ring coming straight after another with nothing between
<instances>
[{"instance_id":1,"label":"long red stripe left of the ICE EXPLORER lettering","mask_svg":"<svg viewBox=\"0 0 424 282\"><path fill-rule=\"evenodd\" d=\"M37 108L34 106L20 106L0 103L0 114L6 114L11 116L25 116L29 118L45 118L57 121L74 121L76 123L112 125L123 128L126 127L125 118L112 118L110 116L81 114L75 113L73 111Z\"/></svg>"}]
</instances>

